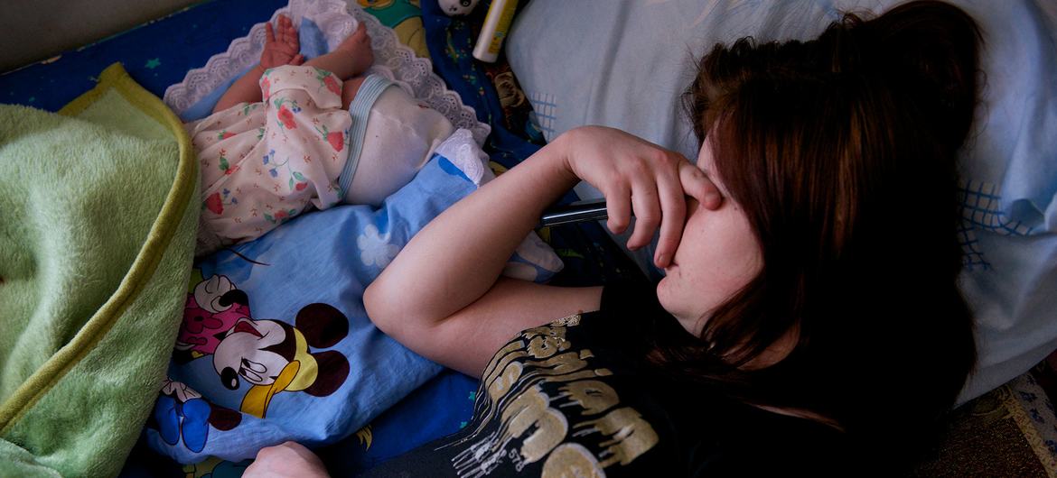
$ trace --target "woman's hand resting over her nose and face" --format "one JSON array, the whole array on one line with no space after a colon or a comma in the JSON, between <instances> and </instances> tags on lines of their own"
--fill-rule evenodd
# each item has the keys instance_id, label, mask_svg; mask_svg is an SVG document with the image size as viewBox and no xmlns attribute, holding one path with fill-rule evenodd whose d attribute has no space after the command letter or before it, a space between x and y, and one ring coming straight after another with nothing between
<instances>
[{"instance_id":1,"label":"woman's hand resting over her nose and face","mask_svg":"<svg viewBox=\"0 0 1057 478\"><path fill-rule=\"evenodd\" d=\"M619 234L635 215L628 249L650 243L661 228L653 264L667 267L686 221L686 196L707 209L722 203L719 189L682 154L605 127L570 130L554 141L569 170L606 196L607 226Z\"/></svg>"}]
</instances>

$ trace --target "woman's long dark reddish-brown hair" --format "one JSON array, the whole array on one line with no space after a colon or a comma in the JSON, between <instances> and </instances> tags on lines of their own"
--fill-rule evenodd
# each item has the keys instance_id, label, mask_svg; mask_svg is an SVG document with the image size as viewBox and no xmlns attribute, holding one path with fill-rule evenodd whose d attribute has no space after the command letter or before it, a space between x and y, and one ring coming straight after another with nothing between
<instances>
[{"instance_id":1,"label":"woman's long dark reddish-brown hair","mask_svg":"<svg viewBox=\"0 0 1057 478\"><path fill-rule=\"evenodd\" d=\"M715 46L684 103L763 265L702 340L661 341L653 358L821 415L878 454L922 444L976 361L957 153L981 42L958 7L917 1L845 15L811 41ZM749 366L790 333L784 360Z\"/></svg>"}]
</instances>

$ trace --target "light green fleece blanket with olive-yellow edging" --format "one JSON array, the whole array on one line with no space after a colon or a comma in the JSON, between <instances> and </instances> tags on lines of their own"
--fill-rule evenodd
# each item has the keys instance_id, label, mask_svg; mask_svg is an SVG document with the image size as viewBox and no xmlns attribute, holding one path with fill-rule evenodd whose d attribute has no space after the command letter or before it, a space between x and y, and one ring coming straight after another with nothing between
<instances>
[{"instance_id":1,"label":"light green fleece blanket with olive-yellow edging","mask_svg":"<svg viewBox=\"0 0 1057 478\"><path fill-rule=\"evenodd\" d=\"M183 311L196 167L120 64L59 114L0 106L0 477L120 471Z\"/></svg>"}]
</instances>

